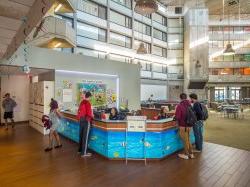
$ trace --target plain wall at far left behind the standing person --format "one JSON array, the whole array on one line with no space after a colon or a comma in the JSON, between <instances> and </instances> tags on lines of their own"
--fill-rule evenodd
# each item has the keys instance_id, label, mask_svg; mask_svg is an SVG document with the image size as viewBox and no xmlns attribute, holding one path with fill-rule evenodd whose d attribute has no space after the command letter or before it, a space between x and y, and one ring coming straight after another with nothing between
<instances>
[{"instance_id":1,"label":"plain wall at far left behind the standing person","mask_svg":"<svg viewBox=\"0 0 250 187\"><path fill-rule=\"evenodd\" d=\"M29 120L29 81L29 77L24 75L1 77L1 101L8 92L17 103L14 109L15 121ZM1 112L1 122L3 122L4 110L2 109Z\"/></svg>"}]
</instances>

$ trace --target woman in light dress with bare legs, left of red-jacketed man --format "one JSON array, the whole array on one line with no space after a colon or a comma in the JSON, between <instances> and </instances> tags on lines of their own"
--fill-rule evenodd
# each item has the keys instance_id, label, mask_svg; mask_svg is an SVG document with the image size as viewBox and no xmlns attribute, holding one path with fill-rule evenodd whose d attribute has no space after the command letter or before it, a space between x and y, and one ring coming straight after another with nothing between
<instances>
[{"instance_id":1,"label":"woman in light dress with bare legs, left of red-jacketed man","mask_svg":"<svg viewBox=\"0 0 250 187\"><path fill-rule=\"evenodd\" d=\"M51 122L50 132L49 132L49 146L44 150L45 152L51 151L53 149L53 139L56 140L57 145L54 147L55 149L61 148L62 143L60 140L60 137L57 133L57 128L60 124L60 118L61 114L58 110L58 103L53 98L50 102L50 113L49 113L49 120Z\"/></svg>"}]
</instances>

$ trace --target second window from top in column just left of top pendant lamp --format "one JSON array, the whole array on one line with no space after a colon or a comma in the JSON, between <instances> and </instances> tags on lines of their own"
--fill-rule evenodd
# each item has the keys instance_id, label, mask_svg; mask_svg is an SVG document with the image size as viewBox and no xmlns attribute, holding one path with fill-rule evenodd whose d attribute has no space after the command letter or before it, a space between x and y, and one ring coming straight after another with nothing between
<instances>
[{"instance_id":1,"label":"second window from top in column just left of top pendant lamp","mask_svg":"<svg viewBox=\"0 0 250 187\"><path fill-rule=\"evenodd\" d=\"M113 10L110 11L110 21L130 29L132 28L131 18L119 14Z\"/></svg>"}]
</instances>

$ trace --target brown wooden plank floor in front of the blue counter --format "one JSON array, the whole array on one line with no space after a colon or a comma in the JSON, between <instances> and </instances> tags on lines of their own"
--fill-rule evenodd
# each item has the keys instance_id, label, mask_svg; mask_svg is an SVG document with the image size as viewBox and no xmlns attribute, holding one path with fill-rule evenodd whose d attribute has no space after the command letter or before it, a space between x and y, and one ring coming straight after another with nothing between
<instances>
[{"instance_id":1,"label":"brown wooden plank floor in front of the blue counter","mask_svg":"<svg viewBox=\"0 0 250 187\"><path fill-rule=\"evenodd\" d=\"M163 161L108 161L98 155L80 158L77 145L45 153L47 137L27 125L0 129L0 187L200 187L249 186L250 152L206 143L194 160L172 155Z\"/></svg>"}]
</instances>

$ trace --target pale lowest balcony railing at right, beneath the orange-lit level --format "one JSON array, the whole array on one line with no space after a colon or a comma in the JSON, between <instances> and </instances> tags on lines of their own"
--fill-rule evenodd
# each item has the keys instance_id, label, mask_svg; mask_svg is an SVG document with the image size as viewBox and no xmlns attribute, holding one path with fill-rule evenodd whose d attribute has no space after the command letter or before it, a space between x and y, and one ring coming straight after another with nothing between
<instances>
[{"instance_id":1,"label":"pale lowest balcony railing at right, beneath the orange-lit level","mask_svg":"<svg viewBox=\"0 0 250 187\"><path fill-rule=\"evenodd\" d=\"M250 75L209 75L209 82L250 82Z\"/></svg>"}]
</instances>

